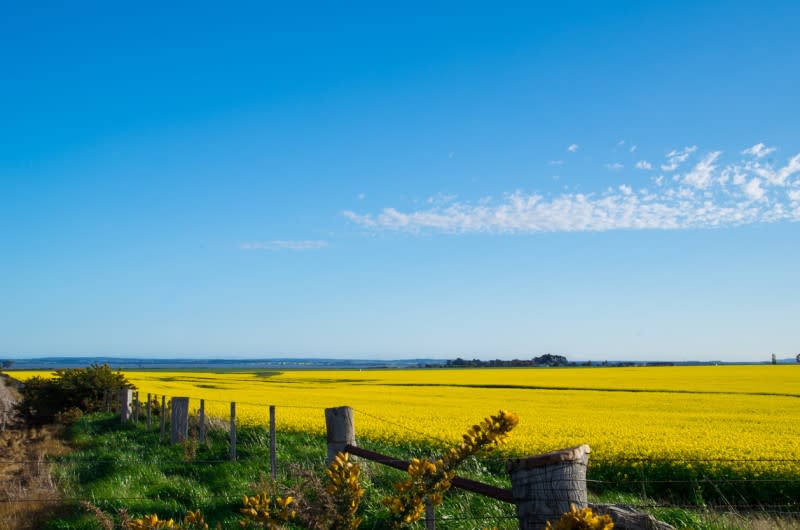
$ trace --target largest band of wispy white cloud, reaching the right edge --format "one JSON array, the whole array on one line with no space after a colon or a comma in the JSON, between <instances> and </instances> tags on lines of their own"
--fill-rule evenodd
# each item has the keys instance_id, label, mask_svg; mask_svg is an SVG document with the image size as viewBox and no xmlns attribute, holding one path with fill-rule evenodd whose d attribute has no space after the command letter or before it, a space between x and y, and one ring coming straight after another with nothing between
<instances>
[{"instance_id":1,"label":"largest band of wispy white cloud, reaching the right edge","mask_svg":"<svg viewBox=\"0 0 800 530\"><path fill-rule=\"evenodd\" d=\"M671 152L668 164L677 168L696 149ZM343 215L373 230L446 233L715 228L800 221L800 154L773 166L752 160L724 163L722 152L712 151L686 173L666 179L659 175L652 183L652 189L623 184L556 196L514 191L498 199Z\"/></svg>"}]
</instances>

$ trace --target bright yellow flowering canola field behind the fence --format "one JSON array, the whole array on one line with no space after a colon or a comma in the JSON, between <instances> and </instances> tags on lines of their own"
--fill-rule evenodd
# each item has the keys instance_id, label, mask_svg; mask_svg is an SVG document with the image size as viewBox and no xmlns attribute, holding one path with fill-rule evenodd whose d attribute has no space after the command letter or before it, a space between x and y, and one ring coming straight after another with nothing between
<instances>
[{"instance_id":1,"label":"bright yellow flowering canola field behind the fence","mask_svg":"<svg viewBox=\"0 0 800 530\"><path fill-rule=\"evenodd\" d=\"M18 372L26 378L33 372ZM508 451L588 443L593 459L771 460L734 467L800 473L800 366L425 369L277 372L128 371L142 393L206 400L225 417L323 432L325 407L356 409L356 434L457 443L478 420L520 416ZM775 462L785 459L786 462Z\"/></svg>"}]
</instances>

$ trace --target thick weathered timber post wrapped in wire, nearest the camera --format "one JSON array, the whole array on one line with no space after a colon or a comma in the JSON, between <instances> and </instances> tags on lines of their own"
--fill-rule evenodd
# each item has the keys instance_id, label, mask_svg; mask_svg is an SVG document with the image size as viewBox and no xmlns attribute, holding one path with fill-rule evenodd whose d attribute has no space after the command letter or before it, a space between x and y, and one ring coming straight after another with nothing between
<instances>
[{"instance_id":1,"label":"thick weathered timber post wrapped in wire, nearest the camera","mask_svg":"<svg viewBox=\"0 0 800 530\"><path fill-rule=\"evenodd\" d=\"M506 463L521 530L541 530L547 521L554 523L570 511L572 504L578 509L587 506L590 452L584 444Z\"/></svg>"}]
</instances>

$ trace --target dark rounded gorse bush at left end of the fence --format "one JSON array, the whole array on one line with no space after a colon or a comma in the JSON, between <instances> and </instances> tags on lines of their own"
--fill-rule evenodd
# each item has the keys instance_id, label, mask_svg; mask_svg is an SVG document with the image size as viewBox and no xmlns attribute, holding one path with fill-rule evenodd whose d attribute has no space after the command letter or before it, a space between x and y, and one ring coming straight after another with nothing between
<instances>
[{"instance_id":1,"label":"dark rounded gorse bush at left end of the fence","mask_svg":"<svg viewBox=\"0 0 800 530\"><path fill-rule=\"evenodd\" d=\"M76 410L100 412L104 409L104 400L123 388L134 386L107 364L57 370L50 379L38 376L28 379L21 389L22 399L16 410L29 424L52 423L66 411L71 411L69 417L77 416Z\"/></svg>"}]
</instances>

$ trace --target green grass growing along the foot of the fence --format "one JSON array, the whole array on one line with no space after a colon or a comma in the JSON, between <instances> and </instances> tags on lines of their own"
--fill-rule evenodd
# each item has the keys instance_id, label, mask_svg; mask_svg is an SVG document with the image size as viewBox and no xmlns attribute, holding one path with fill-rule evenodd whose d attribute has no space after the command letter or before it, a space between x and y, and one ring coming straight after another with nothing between
<instances>
[{"instance_id":1,"label":"green grass growing along the foot of the fence","mask_svg":"<svg viewBox=\"0 0 800 530\"><path fill-rule=\"evenodd\" d=\"M54 472L64 497L62 513L50 520L48 530L95 530L101 526L77 501L90 501L117 517L119 509L132 516L157 513L159 517L181 518L188 510L200 509L213 528L238 528L238 509L242 495L256 493L256 484L269 476L269 434L263 427L238 430L237 460L228 460L228 435L211 431L206 444L170 445L159 440L157 429L143 424L120 425L119 416L92 414L67 430L76 450L59 457ZM402 459L429 457L426 445L388 445L359 440L365 448ZM298 468L322 477L326 443L323 436L302 432L279 432L278 489L297 484ZM404 473L362 460L362 482L366 489L362 501L364 523L361 528L387 528L387 512L381 500L391 494L391 485ZM666 472L666 471L665 471ZM590 478L594 471L590 469ZM459 468L459 475L510 487L501 458L470 459ZM676 528L733 530L737 528L778 528L758 526L753 517L725 515L703 508L702 498L693 509L660 508L650 491L605 487L592 492L598 503L649 505L648 511ZM681 493L683 495L683 493ZM118 518L117 518L118 519ZM443 529L517 528L512 505L457 489L451 490L437 508L437 527ZM791 527L795 528L795 527Z\"/></svg>"}]
</instances>

